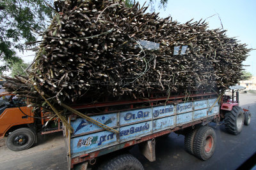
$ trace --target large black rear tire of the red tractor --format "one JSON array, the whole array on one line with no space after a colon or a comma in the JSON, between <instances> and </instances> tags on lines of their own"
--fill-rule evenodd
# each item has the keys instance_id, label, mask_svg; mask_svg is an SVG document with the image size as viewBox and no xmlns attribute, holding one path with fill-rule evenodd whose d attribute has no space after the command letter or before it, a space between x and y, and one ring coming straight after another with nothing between
<instances>
[{"instance_id":1,"label":"large black rear tire of the red tractor","mask_svg":"<svg viewBox=\"0 0 256 170\"><path fill-rule=\"evenodd\" d=\"M231 111L225 114L225 128L230 134L239 134L243 129L244 114L243 110L234 106Z\"/></svg>"}]
</instances>

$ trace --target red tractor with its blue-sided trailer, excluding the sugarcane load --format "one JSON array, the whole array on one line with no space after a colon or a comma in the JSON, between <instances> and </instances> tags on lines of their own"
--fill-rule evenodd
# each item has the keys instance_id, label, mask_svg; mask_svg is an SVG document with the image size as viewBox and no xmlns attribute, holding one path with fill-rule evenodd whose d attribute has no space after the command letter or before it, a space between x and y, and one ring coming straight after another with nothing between
<instances>
[{"instance_id":1,"label":"red tractor with its blue-sided trailer, excluding the sugarcane load","mask_svg":"<svg viewBox=\"0 0 256 170\"><path fill-rule=\"evenodd\" d=\"M250 124L250 111L239 107L239 89L243 87L230 87L232 96L215 92L164 97L151 94L147 99L106 99L73 105L73 109L105 126L76 114L68 117L74 129L72 132L63 128L68 169L143 169L127 151L138 145L140 152L153 162L157 138L171 132L185 136L186 152L207 160L214 154L217 142L209 122L223 122L227 132L235 135L243 125Z\"/></svg>"}]
</instances>

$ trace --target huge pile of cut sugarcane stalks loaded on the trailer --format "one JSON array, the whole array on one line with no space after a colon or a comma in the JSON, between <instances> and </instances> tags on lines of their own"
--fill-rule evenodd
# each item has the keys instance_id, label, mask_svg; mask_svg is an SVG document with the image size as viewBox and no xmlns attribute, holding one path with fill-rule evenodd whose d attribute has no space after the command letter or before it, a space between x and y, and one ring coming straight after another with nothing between
<instances>
[{"instance_id":1,"label":"huge pile of cut sugarcane stalks loaded on the trailer","mask_svg":"<svg viewBox=\"0 0 256 170\"><path fill-rule=\"evenodd\" d=\"M241 80L250 52L222 29L159 18L139 3L59 0L53 8L28 77L6 78L4 85L38 106L39 94L68 103L81 96L218 92Z\"/></svg>"}]
</instances>

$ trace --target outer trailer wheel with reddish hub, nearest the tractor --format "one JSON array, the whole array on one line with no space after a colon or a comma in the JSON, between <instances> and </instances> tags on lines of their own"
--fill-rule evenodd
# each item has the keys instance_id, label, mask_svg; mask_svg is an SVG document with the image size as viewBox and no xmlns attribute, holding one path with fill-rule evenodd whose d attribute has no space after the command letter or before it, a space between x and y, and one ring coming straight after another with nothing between
<instances>
[{"instance_id":1,"label":"outer trailer wheel with reddish hub, nearest the tractor","mask_svg":"<svg viewBox=\"0 0 256 170\"><path fill-rule=\"evenodd\" d=\"M202 126L195 134L193 142L193 153L202 160L209 159L216 147L216 134L214 129Z\"/></svg>"}]
</instances>

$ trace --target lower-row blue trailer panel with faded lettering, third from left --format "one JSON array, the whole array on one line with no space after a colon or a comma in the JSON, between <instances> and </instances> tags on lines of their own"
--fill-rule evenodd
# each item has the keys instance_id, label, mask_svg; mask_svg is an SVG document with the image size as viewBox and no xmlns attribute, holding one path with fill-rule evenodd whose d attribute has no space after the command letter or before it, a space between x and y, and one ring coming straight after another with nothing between
<instances>
[{"instance_id":1,"label":"lower-row blue trailer panel with faded lettering, third from left","mask_svg":"<svg viewBox=\"0 0 256 170\"><path fill-rule=\"evenodd\" d=\"M164 129L168 129L174 125L175 116L172 117L164 117L153 120L153 132L155 131L163 131Z\"/></svg>"}]
</instances>

